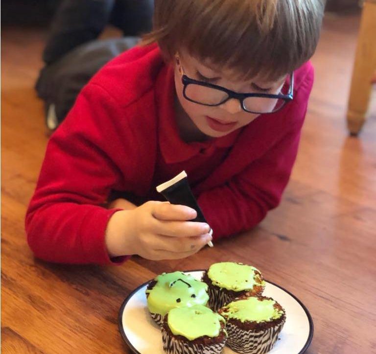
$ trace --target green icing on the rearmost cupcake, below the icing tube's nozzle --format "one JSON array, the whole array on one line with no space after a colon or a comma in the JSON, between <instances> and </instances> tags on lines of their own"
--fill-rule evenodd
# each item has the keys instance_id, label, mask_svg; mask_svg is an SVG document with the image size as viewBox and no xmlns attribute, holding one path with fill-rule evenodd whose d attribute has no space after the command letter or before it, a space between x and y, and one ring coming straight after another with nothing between
<instances>
[{"instance_id":1,"label":"green icing on the rearmost cupcake, below the icing tube's nozzle","mask_svg":"<svg viewBox=\"0 0 376 354\"><path fill-rule=\"evenodd\" d=\"M265 282L256 276L255 267L234 262L214 263L208 270L208 277L214 285L227 290L242 291L253 286L264 286ZM256 276L256 277L255 277Z\"/></svg>"}]
</instances>

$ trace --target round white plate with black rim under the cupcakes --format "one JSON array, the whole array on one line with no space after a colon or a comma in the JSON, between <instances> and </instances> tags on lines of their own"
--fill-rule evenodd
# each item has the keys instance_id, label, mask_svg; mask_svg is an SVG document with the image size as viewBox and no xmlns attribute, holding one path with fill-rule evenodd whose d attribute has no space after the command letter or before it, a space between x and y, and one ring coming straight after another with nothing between
<instances>
[{"instance_id":1,"label":"round white plate with black rim under the cupcakes","mask_svg":"<svg viewBox=\"0 0 376 354\"><path fill-rule=\"evenodd\" d=\"M202 270L185 271L201 279ZM262 293L279 302L286 310L286 322L270 354L301 354L308 348L313 336L313 322L306 307L277 284L266 282ZM118 324L120 333L130 349L137 354L164 354L161 330L152 320L146 303L147 283L140 285L120 307ZM223 354L235 353L225 347Z\"/></svg>"}]
</instances>

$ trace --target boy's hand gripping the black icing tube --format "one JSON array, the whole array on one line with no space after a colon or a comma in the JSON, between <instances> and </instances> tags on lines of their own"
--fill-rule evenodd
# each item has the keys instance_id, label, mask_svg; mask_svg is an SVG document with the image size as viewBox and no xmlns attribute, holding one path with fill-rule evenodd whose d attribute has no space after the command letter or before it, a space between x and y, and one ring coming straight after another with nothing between
<instances>
[{"instance_id":1,"label":"boy's hand gripping the black icing tube","mask_svg":"<svg viewBox=\"0 0 376 354\"><path fill-rule=\"evenodd\" d=\"M112 256L137 254L148 260L172 260L198 252L211 240L206 223L189 221L195 210L168 202L146 202L114 213L106 234Z\"/></svg>"}]
</instances>

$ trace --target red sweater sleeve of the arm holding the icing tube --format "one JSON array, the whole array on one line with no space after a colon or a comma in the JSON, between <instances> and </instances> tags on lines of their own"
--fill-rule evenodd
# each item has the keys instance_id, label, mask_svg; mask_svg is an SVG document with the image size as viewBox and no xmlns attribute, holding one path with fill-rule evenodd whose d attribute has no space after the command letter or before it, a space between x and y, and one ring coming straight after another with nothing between
<instances>
[{"instance_id":1,"label":"red sweater sleeve of the arm holding the icing tube","mask_svg":"<svg viewBox=\"0 0 376 354\"><path fill-rule=\"evenodd\" d=\"M109 94L88 85L52 135L25 217L36 257L82 264L118 264L127 258L109 258L105 232L117 210L102 207L121 180L111 154L117 149L115 121L122 115Z\"/></svg>"}]
</instances>

